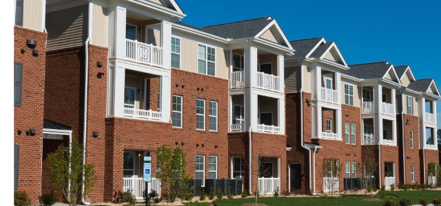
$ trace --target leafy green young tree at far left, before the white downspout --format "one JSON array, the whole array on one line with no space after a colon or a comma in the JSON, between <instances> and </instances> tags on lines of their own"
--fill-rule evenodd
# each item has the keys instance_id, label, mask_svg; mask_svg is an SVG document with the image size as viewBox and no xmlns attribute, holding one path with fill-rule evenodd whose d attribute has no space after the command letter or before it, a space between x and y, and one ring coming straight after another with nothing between
<instances>
[{"instance_id":1,"label":"leafy green young tree at far left, before the white downspout","mask_svg":"<svg viewBox=\"0 0 441 206\"><path fill-rule=\"evenodd\" d=\"M70 149L71 148L71 149ZM92 192L96 181L94 165L83 164L83 148L74 140L70 148L61 148L48 155L48 177L68 201L75 206L81 198ZM88 153L85 153L87 159ZM83 179L84 172L84 179ZM82 186L84 185L84 188ZM81 192L81 189L84 192Z\"/></svg>"}]
</instances>

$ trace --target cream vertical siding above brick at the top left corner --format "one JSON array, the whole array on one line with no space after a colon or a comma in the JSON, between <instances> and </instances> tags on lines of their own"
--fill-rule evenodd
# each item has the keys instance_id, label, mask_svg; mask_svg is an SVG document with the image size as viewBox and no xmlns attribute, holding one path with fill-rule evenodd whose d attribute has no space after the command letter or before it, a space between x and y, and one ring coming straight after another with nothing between
<instances>
[{"instance_id":1,"label":"cream vertical siding above brick at the top left corner","mask_svg":"<svg viewBox=\"0 0 441 206\"><path fill-rule=\"evenodd\" d=\"M43 0L23 1L23 27L43 32Z\"/></svg>"}]
</instances>

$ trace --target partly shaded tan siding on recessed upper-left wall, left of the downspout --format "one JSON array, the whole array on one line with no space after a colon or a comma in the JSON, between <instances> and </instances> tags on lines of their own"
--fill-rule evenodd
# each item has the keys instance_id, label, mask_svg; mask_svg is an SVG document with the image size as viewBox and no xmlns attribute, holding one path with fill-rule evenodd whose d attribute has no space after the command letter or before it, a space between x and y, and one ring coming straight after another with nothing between
<instances>
[{"instance_id":1,"label":"partly shaded tan siding on recessed upper-left wall, left of the downspout","mask_svg":"<svg viewBox=\"0 0 441 206\"><path fill-rule=\"evenodd\" d=\"M88 15L88 4L47 13L47 49L83 45L88 38Z\"/></svg>"}]
</instances>

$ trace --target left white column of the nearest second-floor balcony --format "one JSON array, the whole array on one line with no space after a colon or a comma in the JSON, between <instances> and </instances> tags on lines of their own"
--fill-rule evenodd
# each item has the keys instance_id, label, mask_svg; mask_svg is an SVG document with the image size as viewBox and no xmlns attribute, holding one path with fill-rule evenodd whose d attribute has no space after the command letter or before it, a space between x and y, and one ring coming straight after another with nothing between
<instances>
[{"instance_id":1,"label":"left white column of the nearest second-floor balcony","mask_svg":"<svg viewBox=\"0 0 441 206\"><path fill-rule=\"evenodd\" d=\"M114 116L123 117L123 107L124 107L124 91L125 91L125 68L115 67L114 76Z\"/></svg>"}]
</instances>

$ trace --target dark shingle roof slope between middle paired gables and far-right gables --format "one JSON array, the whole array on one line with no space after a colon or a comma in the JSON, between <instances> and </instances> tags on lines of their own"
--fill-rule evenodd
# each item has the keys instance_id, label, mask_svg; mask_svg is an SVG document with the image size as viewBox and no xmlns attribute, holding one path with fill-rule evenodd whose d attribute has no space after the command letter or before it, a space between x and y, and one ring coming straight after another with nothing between
<instances>
[{"instance_id":1,"label":"dark shingle roof slope between middle paired gables and far-right gables","mask_svg":"<svg viewBox=\"0 0 441 206\"><path fill-rule=\"evenodd\" d=\"M382 78L387 70L391 67L388 62L371 62L360 65L349 65L350 69L342 71L342 73L360 79Z\"/></svg>"}]
</instances>

